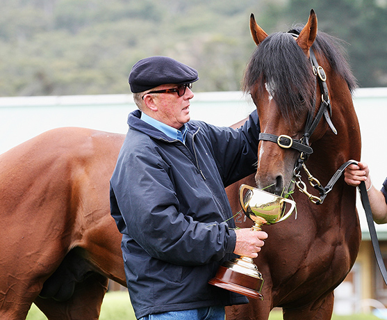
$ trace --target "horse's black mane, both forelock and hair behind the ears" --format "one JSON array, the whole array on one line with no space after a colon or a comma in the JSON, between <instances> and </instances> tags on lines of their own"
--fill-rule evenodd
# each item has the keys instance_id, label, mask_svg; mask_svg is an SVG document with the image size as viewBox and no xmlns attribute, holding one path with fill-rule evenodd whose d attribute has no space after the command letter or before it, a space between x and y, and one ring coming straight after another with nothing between
<instances>
[{"instance_id":1,"label":"horse's black mane, both forelock and hair behind the ears","mask_svg":"<svg viewBox=\"0 0 387 320\"><path fill-rule=\"evenodd\" d=\"M305 109L313 108L315 99L315 76L311 62L297 45L291 33L299 34L302 26L295 26L287 33L268 35L253 52L242 81L242 90L263 93L266 88L281 113L296 116ZM356 79L346 60L342 41L323 32L318 32L312 49L324 56L331 68L347 82L353 93ZM311 99L310 97L313 97Z\"/></svg>"}]
</instances>

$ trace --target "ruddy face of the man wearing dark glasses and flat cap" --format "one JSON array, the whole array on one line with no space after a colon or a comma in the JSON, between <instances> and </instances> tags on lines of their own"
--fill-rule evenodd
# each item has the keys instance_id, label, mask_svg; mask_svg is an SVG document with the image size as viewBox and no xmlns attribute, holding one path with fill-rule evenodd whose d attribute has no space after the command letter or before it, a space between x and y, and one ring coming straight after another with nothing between
<instances>
[{"instance_id":1,"label":"ruddy face of the man wearing dark glasses and flat cap","mask_svg":"<svg viewBox=\"0 0 387 320\"><path fill-rule=\"evenodd\" d=\"M164 90L176 88L176 84L164 84L154 90ZM177 93L156 93L151 94L154 99L157 111L153 113L156 120L180 129L184 123L190 120L190 99L194 96L190 88L186 88L186 93L179 97Z\"/></svg>"}]
</instances>

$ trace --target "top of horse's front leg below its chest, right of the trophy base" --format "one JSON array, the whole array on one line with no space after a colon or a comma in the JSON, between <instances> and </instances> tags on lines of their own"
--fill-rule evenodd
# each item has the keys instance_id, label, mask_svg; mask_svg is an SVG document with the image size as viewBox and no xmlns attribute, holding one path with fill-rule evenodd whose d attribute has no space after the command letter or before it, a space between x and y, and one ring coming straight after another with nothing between
<instances>
[{"instance_id":1,"label":"top of horse's front leg below its chest, right of the trophy base","mask_svg":"<svg viewBox=\"0 0 387 320\"><path fill-rule=\"evenodd\" d=\"M332 291L318 305L316 302L304 308L283 307L283 320L329 320L334 311L334 292Z\"/></svg>"}]
</instances>

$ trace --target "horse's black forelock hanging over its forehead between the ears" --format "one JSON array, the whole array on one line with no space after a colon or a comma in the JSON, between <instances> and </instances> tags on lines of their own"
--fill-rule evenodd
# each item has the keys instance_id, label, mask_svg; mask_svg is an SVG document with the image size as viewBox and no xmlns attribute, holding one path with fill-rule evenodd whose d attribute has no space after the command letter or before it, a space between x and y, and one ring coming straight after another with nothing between
<instances>
[{"instance_id":1,"label":"horse's black forelock hanging over its forehead between the ears","mask_svg":"<svg viewBox=\"0 0 387 320\"><path fill-rule=\"evenodd\" d=\"M315 80L304 51L288 33L273 33L256 47L247 65L243 90L266 89L283 115L311 108Z\"/></svg>"}]
</instances>

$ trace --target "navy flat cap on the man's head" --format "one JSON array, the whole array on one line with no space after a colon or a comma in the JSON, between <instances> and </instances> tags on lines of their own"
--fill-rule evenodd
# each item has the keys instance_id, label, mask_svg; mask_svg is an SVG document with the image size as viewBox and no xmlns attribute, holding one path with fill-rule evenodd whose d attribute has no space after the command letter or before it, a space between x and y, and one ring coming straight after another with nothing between
<instances>
[{"instance_id":1,"label":"navy flat cap on the man's head","mask_svg":"<svg viewBox=\"0 0 387 320\"><path fill-rule=\"evenodd\" d=\"M166 56L151 56L133 65L129 74L132 93L142 93L162 84L191 83L199 80L197 71Z\"/></svg>"}]
</instances>

